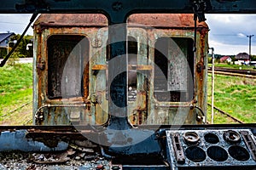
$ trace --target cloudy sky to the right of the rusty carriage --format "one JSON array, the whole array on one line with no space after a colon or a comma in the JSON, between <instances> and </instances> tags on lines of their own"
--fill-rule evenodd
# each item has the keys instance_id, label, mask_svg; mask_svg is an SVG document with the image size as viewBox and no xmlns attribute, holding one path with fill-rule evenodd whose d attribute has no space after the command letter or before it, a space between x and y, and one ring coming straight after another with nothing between
<instances>
[{"instance_id":1,"label":"cloudy sky to the right of the rusty carriage","mask_svg":"<svg viewBox=\"0 0 256 170\"><path fill-rule=\"evenodd\" d=\"M238 54L248 51L248 35L256 35L255 14L206 14L209 44L216 54ZM256 54L256 37L251 39Z\"/></svg>"}]
</instances>

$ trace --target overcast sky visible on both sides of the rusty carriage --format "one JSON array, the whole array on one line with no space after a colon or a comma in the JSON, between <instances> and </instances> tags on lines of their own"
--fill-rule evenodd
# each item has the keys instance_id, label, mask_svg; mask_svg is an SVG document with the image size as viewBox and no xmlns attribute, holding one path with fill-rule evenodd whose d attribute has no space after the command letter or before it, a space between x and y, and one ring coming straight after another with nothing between
<instances>
[{"instance_id":1,"label":"overcast sky visible on both sides of the rusty carriage","mask_svg":"<svg viewBox=\"0 0 256 170\"><path fill-rule=\"evenodd\" d=\"M21 34L32 14L0 14L0 32ZM210 27L209 46L215 54L236 55L249 53L249 35L252 54L256 54L256 14L206 14ZM26 34L32 35L32 28Z\"/></svg>"}]
</instances>

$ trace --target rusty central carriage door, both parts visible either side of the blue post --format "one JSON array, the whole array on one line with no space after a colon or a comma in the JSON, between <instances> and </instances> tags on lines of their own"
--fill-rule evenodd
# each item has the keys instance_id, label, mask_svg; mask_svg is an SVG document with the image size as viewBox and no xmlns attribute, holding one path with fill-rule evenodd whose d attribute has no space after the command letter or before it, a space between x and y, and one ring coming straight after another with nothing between
<instances>
[{"instance_id":1,"label":"rusty central carriage door, both parts visible either side of the blue post","mask_svg":"<svg viewBox=\"0 0 256 170\"><path fill-rule=\"evenodd\" d=\"M128 116L133 125L146 121L148 111L148 36L142 28L128 28ZM94 44L97 42L97 45ZM90 109L95 123L108 121L108 29L99 29L92 41Z\"/></svg>"}]
</instances>

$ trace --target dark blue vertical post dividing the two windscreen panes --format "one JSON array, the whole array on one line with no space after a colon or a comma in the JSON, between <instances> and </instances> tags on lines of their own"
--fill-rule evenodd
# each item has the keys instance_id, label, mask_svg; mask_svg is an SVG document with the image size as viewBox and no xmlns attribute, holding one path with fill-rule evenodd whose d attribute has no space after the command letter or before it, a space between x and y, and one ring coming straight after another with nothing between
<instances>
[{"instance_id":1,"label":"dark blue vertical post dividing the two windscreen panes","mask_svg":"<svg viewBox=\"0 0 256 170\"><path fill-rule=\"evenodd\" d=\"M119 23L123 23L123 20ZM131 127L127 116L126 30L126 24L110 23L108 28L110 42L108 127L116 130L124 130Z\"/></svg>"}]
</instances>

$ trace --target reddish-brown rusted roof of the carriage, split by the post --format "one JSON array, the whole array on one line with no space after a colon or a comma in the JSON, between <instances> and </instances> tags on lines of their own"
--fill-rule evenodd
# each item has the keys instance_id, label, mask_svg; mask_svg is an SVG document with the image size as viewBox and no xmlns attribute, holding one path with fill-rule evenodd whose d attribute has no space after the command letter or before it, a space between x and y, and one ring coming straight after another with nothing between
<instances>
[{"instance_id":1,"label":"reddish-brown rusted roof of the carriage, split by the post","mask_svg":"<svg viewBox=\"0 0 256 170\"><path fill-rule=\"evenodd\" d=\"M131 14L127 22L153 27L195 26L193 14ZM198 27L207 27L206 22L197 24ZM34 25L108 26L108 19L103 14L41 14Z\"/></svg>"}]
</instances>

